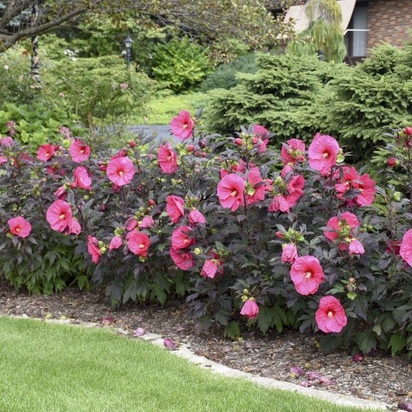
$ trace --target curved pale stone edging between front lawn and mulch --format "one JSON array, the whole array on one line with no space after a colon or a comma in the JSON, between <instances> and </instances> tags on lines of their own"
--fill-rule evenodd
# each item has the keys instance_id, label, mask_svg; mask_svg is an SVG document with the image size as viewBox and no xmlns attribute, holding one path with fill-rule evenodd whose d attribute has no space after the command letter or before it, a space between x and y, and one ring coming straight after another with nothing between
<instances>
[{"instance_id":1,"label":"curved pale stone edging between front lawn and mulch","mask_svg":"<svg viewBox=\"0 0 412 412\"><path fill-rule=\"evenodd\" d=\"M102 328L101 323L95 322L81 322L81 321L71 321L71 319L41 319L28 317L27 315L17 316L17 315L0 315L0 317L11 317L16 319L34 319L37 321L44 321L46 323L59 323L64 325L73 325L73 326L83 326L85 328ZM107 327L106 327L107 328ZM113 328L109 327L111 330L123 334L125 336L133 336L131 330L126 330L122 328ZM135 339L142 339L146 342L152 343L157 346L163 347L163 338L160 334L155 333L145 333L143 336L135 337ZM181 343L176 350L169 351L170 353L180 356L181 358L187 359L195 365L201 366L204 369L209 369L216 374L223 376L228 376L231 378L243 378L249 380L258 385L262 385L269 389L280 389L282 391L293 391L300 393L301 395L311 396L313 398L320 398L327 402L337 404L344 407L356 407L360 409L376 409L380 411L388 411L389 405L384 402L376 402L372 400L365 400L361 398L355 398L354 396L341 395L339 393L331 391L321 391L319 389L314 389L312 387L301 387L291 382L284 382L282 380L276 380L273 378L264 378L263 376L253 375L249 372L240 371L239 369L233 369L222 365L220 363L211 361L205 356L196 355L192 352L187 345Z\"/></svg>"}]
</instances>

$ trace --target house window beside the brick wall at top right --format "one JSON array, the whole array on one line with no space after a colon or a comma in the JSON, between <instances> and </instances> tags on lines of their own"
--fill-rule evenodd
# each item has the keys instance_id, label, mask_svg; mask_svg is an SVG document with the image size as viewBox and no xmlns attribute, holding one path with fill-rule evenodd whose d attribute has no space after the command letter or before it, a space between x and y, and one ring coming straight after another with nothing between
<instances>
[{"instance_id":1,"label":"house window beside the brick wall at top right","mask_svg":"<svg viewBox=\"0 0 412 412\"><path fill-rule=\"evenodd\" d=\"M345 35L347 56L364 58L367 53L367 3L356 5Z\"/></svg>"}]
</instances>

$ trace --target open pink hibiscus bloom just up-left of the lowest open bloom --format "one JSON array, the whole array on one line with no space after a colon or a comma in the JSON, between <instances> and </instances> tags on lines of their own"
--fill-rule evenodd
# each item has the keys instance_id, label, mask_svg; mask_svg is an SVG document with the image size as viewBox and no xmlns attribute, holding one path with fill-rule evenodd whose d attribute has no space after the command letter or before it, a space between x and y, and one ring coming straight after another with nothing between
<instances>
[{"instance_id":1,"label":"open pink hibiscus bloom just up-left of the lowest open bloom","mask_svg":"<svg viewBox=\"0 0 412 412\"><path fill-rule=\"evenodd\" d=\"M301 295L313 295L325 279L319 260L314 256L301 256L290 268L290 278Z\"/></svg>"}]
</instances>

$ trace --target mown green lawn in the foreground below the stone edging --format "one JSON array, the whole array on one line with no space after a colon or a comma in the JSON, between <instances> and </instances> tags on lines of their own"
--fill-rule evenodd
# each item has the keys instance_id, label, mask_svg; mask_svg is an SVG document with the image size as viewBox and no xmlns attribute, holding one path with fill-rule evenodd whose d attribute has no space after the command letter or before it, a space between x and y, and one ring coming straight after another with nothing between
<instances>
[{"instance_id":1,"label":"mown green lawn in the foreground below the stone edging","mask_svg":"<svg viewBox=\"0 0 412 412\"><path fill-rule=\"evenodd\" d=\"M109 330L0 318L0 411L356 409L222 378Z\"/></svg>"}]
</instances>

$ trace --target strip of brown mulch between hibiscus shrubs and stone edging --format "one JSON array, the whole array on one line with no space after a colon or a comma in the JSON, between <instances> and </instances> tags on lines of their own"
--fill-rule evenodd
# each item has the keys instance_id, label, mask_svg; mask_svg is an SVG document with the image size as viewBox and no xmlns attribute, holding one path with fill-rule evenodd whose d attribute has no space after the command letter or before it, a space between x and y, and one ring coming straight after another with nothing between
<instances>
[{"instance_id":1,"label":"strip of brown mulch between hibiscus shrubs and stone edging","mask_svg":"<svg viewBox=\"0 0 412 412\"><path fill-rule=\"evenodd\" d=\"M318 389L386 402L393 410L402 402L412 402L412 362L406 356L391 358L377 352L364 361L354 362L348 352L320 352L314 336L295 331L265 336L244 332L241 341L225 339L222 330L217 329L196 334L186 313L187 307L181 302L166 306L130 304L113 311L102 290L79 292L67 288L52 296L17 293L0 278L0 314L66 317L98 323L112 318L112 325L144 328L186 343L196 354L253 374L299 383L307 378L293 378L289 369L305 367L334 380L334 385L314 385Z\"/></svg>"}]
</instances>

